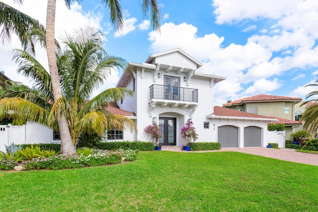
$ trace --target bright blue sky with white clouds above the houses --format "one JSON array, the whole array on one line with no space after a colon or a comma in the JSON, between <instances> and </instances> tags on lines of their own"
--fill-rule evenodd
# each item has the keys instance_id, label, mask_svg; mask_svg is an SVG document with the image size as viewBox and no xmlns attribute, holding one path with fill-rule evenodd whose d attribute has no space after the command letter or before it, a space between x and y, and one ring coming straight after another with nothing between
<instances>
[{"instance_id":1,"label":"bright blue sky with white clouds above the houses","mask_svg":"<svg viewBox=\"0 0 318 212\"><path fill-rule=\"evenodd\" d=\"M22 7L4 2L45 23L46 1L25 0ZM110 55L136 63L178 47L203 64L198 71L227 77L215 87L216 105L257 94L305 99L318 89L305 87L318 79L317 0L158 0L160 34L143 19L140 1L122 1L125 26L120 32L100 2L83 0L68 10L57 0L56 37L89 24L104 32ZM16 39L1 46L0 70L32 85L15 72L8 54L12 48L20 48ZM45 52L38 51L39 61L47 63ZM100 90L115 86L120 74L114 72Z\"/></svg>"}]
</instances>

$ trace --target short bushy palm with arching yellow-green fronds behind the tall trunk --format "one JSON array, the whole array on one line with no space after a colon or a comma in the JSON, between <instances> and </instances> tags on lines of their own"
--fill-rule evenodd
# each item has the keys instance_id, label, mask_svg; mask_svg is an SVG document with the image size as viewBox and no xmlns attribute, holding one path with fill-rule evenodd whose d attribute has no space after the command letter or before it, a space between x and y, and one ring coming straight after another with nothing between
<instances>
[{"instance_id":1,"label":"short bushy palm with arching yellow-green fronds behind the tall trunk","mask_svg":"<svg viewBox=\"0 0 318 212\"><path fill-rule=\"evenodd\" d=\"M81 29L75 36L67 36L67 48L57 53L57 65L62 93L58 101L53 101L53 88L49 73L36 59L23 50L14 50L14 60L19 64L18 72L31 78L42 93L28 98L6 97L0 100L0 118L26 119L54 130L58 130L58 117L67 120L67 130L75 148L82 132L103 136L110 128L135 130L134 122L124 116L107 111L109 102L121 100L125 95L133 95L127 88L109 88L90 101L86 100L98 88L114 67L124 68L126 62L109 56L102 49L101 33L91 27ZM14 113L7 113L14 111ZM62 153L69 152L61 146Z\"/></svg>"}]
</instances>

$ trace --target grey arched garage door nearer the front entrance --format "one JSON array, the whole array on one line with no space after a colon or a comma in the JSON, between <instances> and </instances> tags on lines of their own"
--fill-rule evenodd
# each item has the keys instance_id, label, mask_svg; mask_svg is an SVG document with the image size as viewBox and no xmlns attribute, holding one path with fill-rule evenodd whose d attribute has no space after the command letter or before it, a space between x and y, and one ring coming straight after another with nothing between
<instances>
[{"instance_id":1,"label":"grey arched garage door nearer the front entrance","mask_svg":"<svg viewBox=\"0 0 318 212\"><path fill-rule=\"evenodd\" d=\"M218 142L221 147L239 146L239 128L231 125L218 127Z\"/></svg>"}]
</instances>

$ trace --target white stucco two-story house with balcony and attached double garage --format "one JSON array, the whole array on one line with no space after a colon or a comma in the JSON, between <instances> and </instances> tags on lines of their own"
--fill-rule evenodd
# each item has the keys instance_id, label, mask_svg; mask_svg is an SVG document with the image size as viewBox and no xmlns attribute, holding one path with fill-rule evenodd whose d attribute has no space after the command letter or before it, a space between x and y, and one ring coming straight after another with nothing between
<instances>
[{"instance_id":1,"label":"white stucco two-story house with balcony and attached double garage","mask_svg":"<svg viewBox=\"0 0 318 212\"><path fill-rule=\"evenodd\" d=\"M157 123L163 131L160 145L182 146L181 128L192 120L198 142L220 142L221 147L266 146L267 122L277 120L214 107L215 84L226 78L202 73L199 71L201 66L178 48L150 55L142 64L129 63L116 87L129 88L134 91L134 96L118 101L108 110L132 119L138 131L130 133L114 129L108 131L106 141L150 141L144 128ZM40 128L37 131L47 134ZM49 134L49 139L42 142L59 142L53 131ZM2 145L0 143L0 150Z\"/></svg>"}]
</instances>

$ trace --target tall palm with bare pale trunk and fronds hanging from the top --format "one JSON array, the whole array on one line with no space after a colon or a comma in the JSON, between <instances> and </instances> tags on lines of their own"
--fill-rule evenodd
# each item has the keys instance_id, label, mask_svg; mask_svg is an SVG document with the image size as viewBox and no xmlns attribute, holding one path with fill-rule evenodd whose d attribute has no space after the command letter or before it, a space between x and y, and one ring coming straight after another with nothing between
<instances>
[{"instance_id":1,"label":"tall palm with bare pale trunk and fronds hanging from the top","mask_svg":"<svg viewBox=\"0 0 318 212\"><path fill-rule=\"evenodd\" d=\"M65 0L66 5L70 8L70 5L74 1L80 0ZM19 4L23 3L23 0L15 0ZM101 0L102 3L106 4L110 9L110 20L112 24L116 27L116 29L120 29L123 26L123 15L122 9L120 5L120 1L118 0ZM151 10L151 21L154 29L160 30L160 12L159 5L157 0L143 0L142 10L144 16L146 16L149 12L149 7ZM59 72L57 67L57 58L55 55L55 10L56 10L56 0L48 0L47 4L47 16L46 16L46 32L45 32L45 40L38 39L44 46L46 45L47 56L48 56L48 64L49 71L52 83L52 91L54 96L54 102L61 106L60 102L63 102L62 98L62 89L59 81ZM18 18L16 18L18 17ZM24 13L10 7L3 2L0 2L0 27L3 27L4 33L0 33L0 38L10 40L11 32L14 32L18 35L21 43L24 45L24 49L27 46L31 46L34 52L33 46L33 37L30 36L30 31L34 29L34 31L39 32L41 34L44 31L44 27L39 24L35 19L25 15ZM2 31L2 32L3 32ZM37 33L36 33L37 34ZM43 38L43 36L40 36ZM45 41L45 42L44 42ZM56 106L56 107L57 107ZM62 153L75 153L76 148L72 144L71 132L68 130L68 120L61 113L61 108L57 115L58 126L61 135L61 152ZM73 140L74 141L74 140Z\"/></svg>"}]
</instances>

